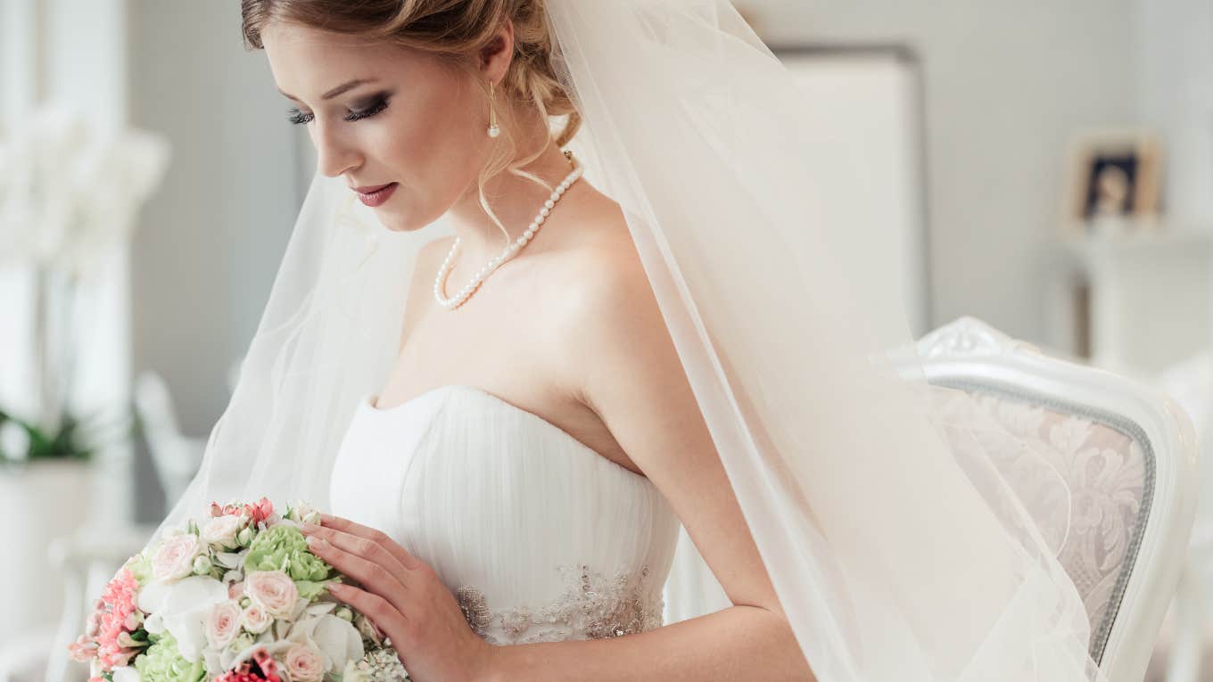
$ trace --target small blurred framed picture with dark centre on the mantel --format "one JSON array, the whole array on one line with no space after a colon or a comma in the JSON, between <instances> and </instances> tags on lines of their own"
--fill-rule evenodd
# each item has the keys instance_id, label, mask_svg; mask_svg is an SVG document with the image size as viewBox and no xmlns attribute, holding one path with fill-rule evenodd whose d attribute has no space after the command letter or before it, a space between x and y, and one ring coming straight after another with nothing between
<instances>
[{"instance_id":1,"label":"small blurred framed picture with dark centre on the mantel","mask_svg":"<svg viewBox=\"0 0 1213 682\"><path fill-rule=\"evenodd\" d=\"M1066 192L1071 234L1155 229L1162 184L1162 150L1149 131L1080 136L1071 146Z\"/></svg>"}]
</instances>

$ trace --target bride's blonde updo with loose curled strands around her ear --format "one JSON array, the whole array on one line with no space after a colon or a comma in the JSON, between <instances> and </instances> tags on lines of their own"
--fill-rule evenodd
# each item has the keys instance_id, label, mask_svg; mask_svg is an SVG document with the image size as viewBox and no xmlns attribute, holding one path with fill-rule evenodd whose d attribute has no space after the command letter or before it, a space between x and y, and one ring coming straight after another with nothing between
<instances>
[{"instance_id":1,"label":"bride's blonde updo with loose curled strands around her ear","mask_svg":"<svg viewBox=\"0 0 1213 682\"><path fill-rule=\"evenodd\" d=\"M506 21L512 22L513 57L505 78L495 86L512 106L497 110L501 135L477 178L480 206L502 232L506 228L484 195L485 184L499 174L509 172L552 191L551 184L522 167L537 159L547 144L566 144L581 127L581 115L553 66L559 57L558 46L543 0L241 0L240 15L250 50L263 47L263 27L286 22L449 57L454 66L468 72L474 70L473 57L491 44ZM488 98L488 84L480 79L475 83ZM537 152L519 158L525 121L516 114L542 121L545 130L549 129L552 116L566 120L563 130L554 137L549 133Z\"/></svg>"}]
</instances>

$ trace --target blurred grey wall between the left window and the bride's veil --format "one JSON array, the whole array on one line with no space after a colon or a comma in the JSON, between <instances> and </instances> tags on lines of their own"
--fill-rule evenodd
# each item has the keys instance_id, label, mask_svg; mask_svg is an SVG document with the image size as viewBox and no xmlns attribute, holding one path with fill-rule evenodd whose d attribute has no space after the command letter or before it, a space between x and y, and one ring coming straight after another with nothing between
<instances>
[{"instance_id":1,"label":"blurred grey wall between the left window and the bride's veil","mask_svg":"<svg viewBox=\"0 0 1213 682\"><path fill-rule=\"evenodd\" d=\"M132 0L132 118L173 160L135 243L135 364L205 436L261 317L302 194L297 131L233 2Z\"/></svg>"}]
</instances>

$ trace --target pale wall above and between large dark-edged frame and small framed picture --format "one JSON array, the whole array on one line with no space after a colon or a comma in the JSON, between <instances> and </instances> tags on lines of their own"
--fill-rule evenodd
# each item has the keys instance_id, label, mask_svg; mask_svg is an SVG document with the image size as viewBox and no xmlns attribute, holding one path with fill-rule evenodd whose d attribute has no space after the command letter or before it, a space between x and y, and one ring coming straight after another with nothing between
<instances>
[{"instance_id":1,"label":"pale wall above and between large dark-edged frame and small framed picture","mask_svg":"<svg viewBox=\"0 0 1213 682\"><path fill-rule=\"evenodd\" d=\"M935 324L1046 330L1070 136L1135 114L1137 0L740 0L774 42L898 42L924 68Z\"/></svg>"}]
</instances>

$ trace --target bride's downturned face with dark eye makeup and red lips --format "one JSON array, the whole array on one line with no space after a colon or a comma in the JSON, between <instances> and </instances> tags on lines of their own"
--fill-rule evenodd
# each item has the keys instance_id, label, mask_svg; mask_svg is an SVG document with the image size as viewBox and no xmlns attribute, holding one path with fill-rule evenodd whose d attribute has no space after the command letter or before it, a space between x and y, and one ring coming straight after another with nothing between
<instances>
[{"instance_id":1,"label":"bride's downturned face with dark eye makeup and red lips","mask_svg":"<svg viewBox=\"0 0 1213 682\"><path fill-rule=\"evenodd\" d=\"M295 24L273 23L261 36L319 171L351 188L392 184L364 198L388 229L420 229L474 187L489 104L466 72L426 52Z\"/></svg>"}]
</instances>

